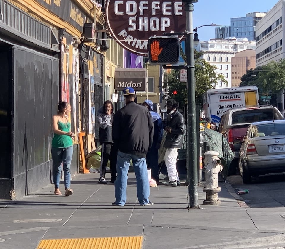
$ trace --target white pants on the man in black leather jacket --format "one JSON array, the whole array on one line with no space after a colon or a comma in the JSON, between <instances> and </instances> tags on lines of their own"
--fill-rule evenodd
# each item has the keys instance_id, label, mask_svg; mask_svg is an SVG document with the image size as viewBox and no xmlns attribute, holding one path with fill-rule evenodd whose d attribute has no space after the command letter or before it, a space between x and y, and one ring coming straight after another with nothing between
<instances>
[{"instance_id":1,"label":"white pants on the man in black leather jacket","mask_svg":"<svg viewBox=\"0 0 285 249\"><path fill-rule=\"evenodd\" d=\"M179 181L178 172L176 168L178 156L177 148L167 148L164 155L164 161L167 168L169 181Z\"/></svg>"}]
</instances>

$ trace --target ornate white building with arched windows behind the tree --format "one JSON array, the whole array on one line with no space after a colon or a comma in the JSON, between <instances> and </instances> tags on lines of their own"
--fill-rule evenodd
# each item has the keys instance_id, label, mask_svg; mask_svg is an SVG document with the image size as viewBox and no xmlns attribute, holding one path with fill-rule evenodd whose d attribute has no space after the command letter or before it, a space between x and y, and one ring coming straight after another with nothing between
<instances>
[{"instance_id":1,"label":"ornate white building with arched windows behind the tree","mask_svg":"<svg viewBox=\"0 0 285 249\"><path fill-rule=\"evenodd\" d=\"M219 82L216 85L216 89L232 87L231 58L235 56L235 53L246 49L255 49L255 41L248 41L247 38L237 39L235 37L200 41L199 50L203 52L203 59L205 59L211 65L216 66L216 74L223 74L228 81L227 84ZM236 67L237 66L238 65L236 65Z\"/></svg>"}]
</instances>

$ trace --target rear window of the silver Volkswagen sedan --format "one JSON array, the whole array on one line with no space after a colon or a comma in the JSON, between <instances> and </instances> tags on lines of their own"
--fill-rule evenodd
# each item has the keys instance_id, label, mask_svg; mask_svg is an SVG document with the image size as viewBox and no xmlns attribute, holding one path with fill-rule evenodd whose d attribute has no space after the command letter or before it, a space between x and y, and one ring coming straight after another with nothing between
<instances>
[{"instance_id":1,"label":"rear window of the silver Volkswagen sedan","mask_svg":"<svg viewBox=\"0 0 285 249\"><path fill-rule=\"evenodd\" d=\"M269 123L251 126L250 137L285 135L284 123Z\"/></svg>"}]
</instances>

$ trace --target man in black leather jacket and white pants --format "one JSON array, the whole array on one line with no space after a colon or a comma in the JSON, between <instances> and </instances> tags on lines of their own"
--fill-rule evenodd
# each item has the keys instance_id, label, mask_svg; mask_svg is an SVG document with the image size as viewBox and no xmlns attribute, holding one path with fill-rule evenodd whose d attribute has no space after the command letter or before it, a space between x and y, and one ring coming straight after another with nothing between
<instances>
[{"instance_id":1,"label":"man in black leather jacket and white pants","mask_svg":"<svg viewBox=\"0 0 285 249\"><path fill-rule=\"evenodd\" d=\"M167 168L169 181L165 185L177 187L180 186L179 176L176 168L178 149L183 145L185 133L185 122L183 115L178 111L178 103L174 99L166 102L167 118L165 131L167 132L164 147L166 152L164 161Z\"/></svg>"}]
</instances>

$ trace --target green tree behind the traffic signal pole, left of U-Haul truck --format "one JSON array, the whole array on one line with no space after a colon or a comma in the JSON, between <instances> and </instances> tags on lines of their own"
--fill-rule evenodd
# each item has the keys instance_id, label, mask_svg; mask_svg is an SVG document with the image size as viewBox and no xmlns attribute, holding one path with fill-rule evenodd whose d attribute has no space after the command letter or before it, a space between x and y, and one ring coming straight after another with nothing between
<instances>
[{"instance_id":1,"label":"green tree behind the traffic signal pole, left of U-Haul truck","mask_svg":"<svg viewBox=\"0 0 285 249\"><path fill-rule=\"evenodd\" d=\"M180 49L180 54L186 61L186 55ZM215 86L222 82L227 83L224 75L217 75L215 70L217 69L210 63L202 59L202 52L194 50L194 61L195 61L195 95L196 102L203 103L202 94L208 89L213 89ZM164 82L168 87L168 94L164 94L165 99L175 99L179 102L180 106L184 106L187 102L187 83L180 82L180 70L172 69L170 73L164 74ZM173 94L176 91L177 94Z\"/></svg>"}]
</instances>

